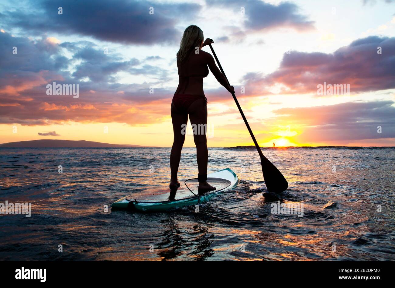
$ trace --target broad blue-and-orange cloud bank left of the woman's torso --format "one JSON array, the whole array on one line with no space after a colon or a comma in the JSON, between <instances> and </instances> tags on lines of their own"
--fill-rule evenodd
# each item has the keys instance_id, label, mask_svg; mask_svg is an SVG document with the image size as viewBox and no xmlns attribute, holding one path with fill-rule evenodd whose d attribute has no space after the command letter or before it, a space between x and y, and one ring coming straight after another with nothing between
<instances>
[{"instance_id":1,"label":"broad blue-and-orange cloud bank left of the woman's torso","mask_svg":"<svg viewBox=\"0 0 395 288\"><path fill-rule=\"evenodd\" d=\"M17 54L12 53L14 45ZM166 69L150 64L157 57L124 60L117 53L104 54L88 41L59 44L47 38L32 41L13 37L7 32L0 32L0 53L0 123L114 121L139 125L160 122L169 114L174 91L161 88L168 76ZM118 72L130 74L131 79L146 75L147 81L117 83ZM88 81L81 81L84 78ZM53 81L79 84L79 98L47 95L46 85Z\"/></svg>"}]
</instances>

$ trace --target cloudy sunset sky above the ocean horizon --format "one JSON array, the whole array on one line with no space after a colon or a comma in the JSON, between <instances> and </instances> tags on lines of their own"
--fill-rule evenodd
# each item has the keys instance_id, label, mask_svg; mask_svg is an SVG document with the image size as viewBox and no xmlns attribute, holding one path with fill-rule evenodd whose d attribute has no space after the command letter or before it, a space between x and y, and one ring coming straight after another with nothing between
<instances>
[{"instance_id":1,"label":"cloudy sunset sky above the ocean horizon","mask_svg":"<svg viewBox=\"0 0 395 288\"><path fill-rule=\"evenodd\" d=\"M394 0L2 0L0 143L171 147L189 25L214 40L260 146L395 146ZM47 95L53 82L79 84L78 98ZM208 146L253 145L211 72L203 87Z\"/></svg>"}]
</instances>

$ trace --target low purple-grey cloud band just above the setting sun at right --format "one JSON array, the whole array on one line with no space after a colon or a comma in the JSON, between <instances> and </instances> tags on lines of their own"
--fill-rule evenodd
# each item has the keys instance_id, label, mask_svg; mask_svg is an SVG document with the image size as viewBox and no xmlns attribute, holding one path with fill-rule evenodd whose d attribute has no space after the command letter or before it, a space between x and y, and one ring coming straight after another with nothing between
<instances>
[{"instance_id":1,"label":"low purple-grey cloud band just above the setting sun at right","mask_svg":"<svg viewBox=\"0 0 395 288\"><path fill-rule=\"evenodd\" d=\"M273 121L303 126L297 142L355 141L395 137L393 101L347 102L330 106L281 108ZM382 133L377 133L378 126ZM393 143L395 145L395 141Z\"/></svg>"}]
</instances>

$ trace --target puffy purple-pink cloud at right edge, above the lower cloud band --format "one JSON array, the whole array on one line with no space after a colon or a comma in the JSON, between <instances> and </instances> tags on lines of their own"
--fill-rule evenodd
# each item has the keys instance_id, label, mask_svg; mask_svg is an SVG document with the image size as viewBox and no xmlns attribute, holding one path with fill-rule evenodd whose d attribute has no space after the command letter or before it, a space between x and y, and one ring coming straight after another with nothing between
<instances>
[{"instance_id":1,"label":"puffy purple-pink cloud at right edge, above the lower cloud band","mask_svg":"<svg viewBox=\"0 0 395 288\"><path fill-rule=\"evenodd\" d=\"M381 54L378 54L381 47ZM395 37L369 36L355 40L332 54L320 52L284 53L275 72L263 76L244 76L252 94L270 94L275 85L278 93L316 93L317 85L350 84L351 93L395 88Z\"/></svg>"}]
</instances>

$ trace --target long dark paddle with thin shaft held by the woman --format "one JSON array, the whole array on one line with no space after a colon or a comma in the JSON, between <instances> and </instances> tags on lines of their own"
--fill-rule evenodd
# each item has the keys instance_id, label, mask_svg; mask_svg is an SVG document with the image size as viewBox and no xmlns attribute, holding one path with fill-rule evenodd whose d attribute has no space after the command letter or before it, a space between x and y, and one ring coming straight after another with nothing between
<instances>
[{"instance_id":1,"label":"long dark paddle with thin shaft held by the woman","mask_svg":"<svg viewBox=\"0 0 395 288\"><path fill-rule=\"evenodd\" d=\"M220 61L218 61L217 55L214 52L213 46L211 46L211 44L209 44L211 52L213 52L214 58L218 63L218 66L220 67L220 70L222 72L222 74L224 74L226 81L228 81L228 85L229 84L229 80L225 75L224 70L222 69L222 66L220 64ZM236 102L237 108L239 108L241 117L243 117L244 123L246 123L248 132L250 132L251 138L254 141L256 150L258 150L258 153L261 157L261 165L262 165L262 173L263 173L263 179L265 179L265 184L267 189L270 192L275 192L275 193L281 193L282 191L285 191L288 188L288 182L287 180L285 180L284 176L281 174L280 171L278 171L277 167L275 165L273 165L273 163L271 163L262 153L261 148L258 145L258 142L256 142L255 136L252 133L252 130L250 128L250 125L247 122L246 117L244 116L243 110L241 110L239 101L237 101L236 95L235 93L232 93L233 99Z\"/></svg>"}]
</instances>

